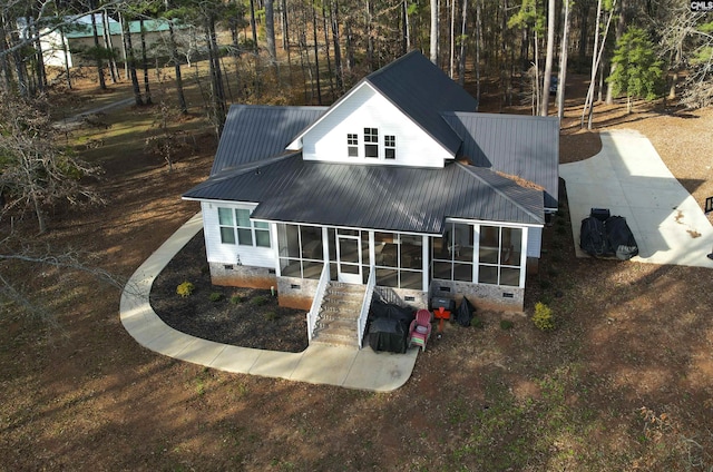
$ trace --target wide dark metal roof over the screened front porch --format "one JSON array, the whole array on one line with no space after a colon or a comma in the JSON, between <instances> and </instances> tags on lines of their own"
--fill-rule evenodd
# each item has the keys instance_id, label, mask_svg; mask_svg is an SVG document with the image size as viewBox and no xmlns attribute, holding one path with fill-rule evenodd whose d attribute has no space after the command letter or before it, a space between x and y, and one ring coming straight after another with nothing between
<instances>
[{"instance_id":1,"label":"wide dark metal roof over the screened front porch","mask_svg":"<svg viewBox=\"0 0 713 472\"><path fill-rule=\"evenodd\" d=\"M543 193L489 169L354 166L301 154L211 177L186 198L257 203L273 222L442 234L446 217L544 224Z\"/></svg>"}]
</instances>

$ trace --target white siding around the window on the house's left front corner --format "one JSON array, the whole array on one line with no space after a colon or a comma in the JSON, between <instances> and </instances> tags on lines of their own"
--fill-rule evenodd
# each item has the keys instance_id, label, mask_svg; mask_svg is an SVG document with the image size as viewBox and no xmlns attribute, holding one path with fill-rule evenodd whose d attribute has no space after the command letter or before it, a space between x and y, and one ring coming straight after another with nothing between
<instances>
[{"instance_id":1,"label":"white siding around the window on the house's left front corner","mask_svg":"<svg viewBox=\"0 0 713 472\"><path fill-rule=\"evenodd\" d=\"M256 205L233 204L227 201L202 201L203 232L205 236L205 250L208 263L240 264L252 267L275 268L276 255L273 247L241 246L238 244L221 243L221 229L218 225L218 207L247 208L253 210ZM271 233L272 233L271 225ZM271 238L274 242L274 238Z\"/></svg>"}]
</instances>

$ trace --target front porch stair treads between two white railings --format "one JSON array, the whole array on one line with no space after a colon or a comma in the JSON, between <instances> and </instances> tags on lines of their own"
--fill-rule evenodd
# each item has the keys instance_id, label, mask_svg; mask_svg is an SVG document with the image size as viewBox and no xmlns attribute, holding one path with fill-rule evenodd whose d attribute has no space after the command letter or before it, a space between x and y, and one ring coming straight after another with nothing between
<instances>
[{"instance_id":1,"label":"front porch stair treads between two white railings","mask_svg":"<svg viewBox=\"0 0 713 472\"><path fill-rule=\"evenodd\" d=\"M312 343L356 347L356 321L364 301L363 285L330 282L324 293Z\"/></svg>"}]
</instances>

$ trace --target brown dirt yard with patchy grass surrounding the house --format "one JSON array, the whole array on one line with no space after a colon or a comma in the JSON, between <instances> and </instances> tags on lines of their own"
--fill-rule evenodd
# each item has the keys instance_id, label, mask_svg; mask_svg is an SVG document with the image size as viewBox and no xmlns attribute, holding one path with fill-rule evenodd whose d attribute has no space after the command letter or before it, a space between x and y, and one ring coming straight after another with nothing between
<instances>
[{"instance_id":1,"label":"brown dirt yard with patchy grass surrounding the house","mask_svg":"<svg viewBox=\"0 0 713 472\"><path fill-rule=\"evenodd\" d=\"M697 201L713 195L713 110L598 106L589 132L578 130L578 101L561 161L596 154L605 127L635 128ZM111 136L85 130L82 142L101 140L82 153L106 168L98 186L108 205L57 209L40 246L79 249L126 279L198 210L179 196L208 175L215 141L195 135L168 173L131 147L139 131L126 124L150 121L147 112L107 112ZM447 325L409 382L382 394L157 355L123 328L118 288L18 265L13 279L57 323L2 307L0 470L710 471L711 271L576 259L567 217L565 201L527 281L528 314ZM538 301L557 331L528 319ZM501 328L502 318L514 326Z\"/></svg>"}]
</instances>

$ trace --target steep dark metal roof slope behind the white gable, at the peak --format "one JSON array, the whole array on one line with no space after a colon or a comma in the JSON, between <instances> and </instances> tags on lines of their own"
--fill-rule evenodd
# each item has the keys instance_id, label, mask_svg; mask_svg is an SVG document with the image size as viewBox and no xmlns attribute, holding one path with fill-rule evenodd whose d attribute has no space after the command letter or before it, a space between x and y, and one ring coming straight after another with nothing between
<instances>
[{"instance_id":1,"label":"steep dark metal roof slope behind the white gable, at the peak","mask_svg":"<svg viewBox=\"0 0 713 472\"><path fill-rule=\"evenodd\" d=\"M394 106L451 153L461 139L445 122L442 111L476 111L478 100L452 81L420 51L408 55L367 76Z\"/></svg>"}]
</instances>

